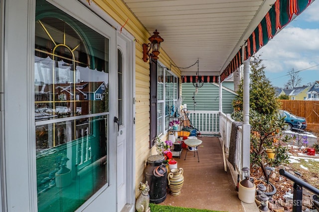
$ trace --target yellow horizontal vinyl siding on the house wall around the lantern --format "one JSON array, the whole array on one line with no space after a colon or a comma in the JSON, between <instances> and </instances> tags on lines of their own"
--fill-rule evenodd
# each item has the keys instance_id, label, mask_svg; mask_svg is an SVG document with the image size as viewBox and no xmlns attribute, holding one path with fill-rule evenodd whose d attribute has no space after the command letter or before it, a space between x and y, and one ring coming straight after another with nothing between
<instances>
[{"instance_id":1,"label":"yellow horizontal vinyl siding on the house wall around the lantern","mask_svg":"<svg viewBox=\"0 0 319 212\"><path fill-rule=\"evenodd\" d=\"M150 156L150 64L145 63L142 60L142 44L148 43L148 38L151 35L121 0L94 0L94 2L96 2L96 4L98 4L106 13L113 17L113 19L115 19L120 25L123 25L128 19L124 28L135 37L136 41L135 184L139 185L139 182L144 182L144 168L146 160ZM165 38L163 39L165 41ZM163 49L160 50L159 57L159 61L164 66L169 68L171 59L166 55ZM172 68L171 71L180 78L180 70ZM152 154L155 153L156 151L153 148Z\"/></svg>"}]
</instances>

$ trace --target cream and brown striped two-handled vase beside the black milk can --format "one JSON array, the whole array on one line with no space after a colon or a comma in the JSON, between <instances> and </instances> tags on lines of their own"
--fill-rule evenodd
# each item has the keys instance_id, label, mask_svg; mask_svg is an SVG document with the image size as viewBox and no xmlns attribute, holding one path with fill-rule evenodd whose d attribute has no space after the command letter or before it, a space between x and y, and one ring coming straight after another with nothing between
<instances>
[{"instance_id":1,"label":"cream and brown striped two-handled vase beside the black milk can","mask_svg":"<svg viewBox=\"0 0 319 212\"><path fill-rule=\"evenodd\" d=\"M183 169L171 169L167 175L167 183L172 196L180 195L184 183Z\"/></svg>"}]
</instances>

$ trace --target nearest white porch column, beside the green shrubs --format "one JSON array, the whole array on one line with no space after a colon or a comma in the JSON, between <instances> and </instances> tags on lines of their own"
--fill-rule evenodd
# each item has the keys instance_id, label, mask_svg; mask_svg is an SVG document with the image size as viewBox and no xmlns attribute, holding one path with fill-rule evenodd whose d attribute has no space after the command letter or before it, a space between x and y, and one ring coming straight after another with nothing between
<instances>
[{"instance_id":1,"label":"nearest white porch column, beside the green shrubs","mask_svg":"<svg viewBox=\"0 0 319 212\"><path fill-rule=\"evenodd\" d=\"M242 167L248 167L248 168L250 168L250 124L249 124L250 65L249 65L249 62L250 62L250 58L248 58L243 63L244 77L243 77L243 134L242 134ZM243 173L241 174L243 177Z\"/></svg>"}]
</instances>

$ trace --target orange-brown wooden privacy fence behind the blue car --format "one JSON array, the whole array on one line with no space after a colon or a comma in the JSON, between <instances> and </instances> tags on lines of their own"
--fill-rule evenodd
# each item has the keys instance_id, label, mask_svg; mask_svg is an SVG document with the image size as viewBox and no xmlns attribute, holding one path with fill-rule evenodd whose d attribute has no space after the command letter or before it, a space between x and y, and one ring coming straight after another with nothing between
<instances>
[{"instance_id":1,"label":"orange-brown wooden privacy fence behind the blue car","mask_svg":"<svg viewBox=\"0 0 319 212\"><path fill-rule=\"evenodd\" d=\"M307 120L307 131L319 133L319 101L280 100L281 108Z\"/></svg>"}]
</instances>

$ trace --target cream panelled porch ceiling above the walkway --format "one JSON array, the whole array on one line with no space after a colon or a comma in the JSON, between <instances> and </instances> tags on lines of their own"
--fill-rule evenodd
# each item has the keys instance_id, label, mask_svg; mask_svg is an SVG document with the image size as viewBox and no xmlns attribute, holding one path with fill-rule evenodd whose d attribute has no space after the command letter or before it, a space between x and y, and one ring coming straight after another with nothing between
<instances>
[{"instance_id":1,"label":"cream panelled porch ceiling above the walkway","mask_svg":"<svg viewBox=\"0 0 319 212\"><path fill-rule=\"evenodd\" d=\"M275 0L123 0L177 67L220 75ZM159 56L160 57L160 56ZM197 66L181 69L196 75Z\"/></svg>"}]
</instances>

